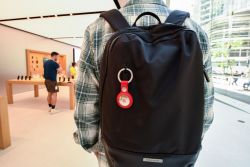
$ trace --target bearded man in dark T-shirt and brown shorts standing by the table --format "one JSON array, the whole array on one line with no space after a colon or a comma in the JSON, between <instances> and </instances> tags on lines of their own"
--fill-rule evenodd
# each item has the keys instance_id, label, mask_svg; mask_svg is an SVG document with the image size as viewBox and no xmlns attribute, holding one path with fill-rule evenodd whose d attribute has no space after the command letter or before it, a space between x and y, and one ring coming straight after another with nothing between
<instances>
[{"instance_id":1,"label":"bearded man in dark T-shirt and brown shorts standing by the table","mask_svg":"<svg viewBox=\"0 0 250 167\"><path fill-rule=\"evenodd\" d=\"M59 53L52 52L51 59L44 63L44 78L45 86L48 91L47 102L49 106L49 112L54 112L57 102L57 92L59 87L57 86L57 74L62 72L62 68L57 63Z\"/></svg>"}]
</instances>

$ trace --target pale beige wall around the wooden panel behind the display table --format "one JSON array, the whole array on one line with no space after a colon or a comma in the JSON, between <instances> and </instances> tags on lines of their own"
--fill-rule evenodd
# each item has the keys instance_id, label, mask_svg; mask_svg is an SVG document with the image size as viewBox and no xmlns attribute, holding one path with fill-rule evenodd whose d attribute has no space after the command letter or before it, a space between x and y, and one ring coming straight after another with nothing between
<instances>
[{"instance_id":1,"label":"pale beige wall around the wooden panel behind the display table","mask_svg":"<svg viewBox=\"0 0 250 167\"><path fill-rule=\"evenodd\" d=\"M68 67L73 61L70 45L0 25L0 95L6 93L6 80L26 74L26 49L65 54ZM14 86L13 90L20 93L31 89L31 86Z\"/></svg>"}]
</instances>

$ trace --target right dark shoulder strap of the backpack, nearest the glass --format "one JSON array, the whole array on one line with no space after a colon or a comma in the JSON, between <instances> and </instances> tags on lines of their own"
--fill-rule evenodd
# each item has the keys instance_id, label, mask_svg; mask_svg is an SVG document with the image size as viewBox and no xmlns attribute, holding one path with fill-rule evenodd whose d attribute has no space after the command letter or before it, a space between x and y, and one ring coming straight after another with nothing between
<instances>
[{"instance_id":1,"label":"right dark shoulder strap of the backpack, nearest the glass","mask_svg":"<svg viewBox=\"0 0 250 167\"><path fill-rule=\"evenodd\" d=\"M190 14L188 12L180 11L180 10L174 10L170 13L165 23L172 23L176 25L182 25L186 18L190 17Z\"/></svg>"}]
</instances>

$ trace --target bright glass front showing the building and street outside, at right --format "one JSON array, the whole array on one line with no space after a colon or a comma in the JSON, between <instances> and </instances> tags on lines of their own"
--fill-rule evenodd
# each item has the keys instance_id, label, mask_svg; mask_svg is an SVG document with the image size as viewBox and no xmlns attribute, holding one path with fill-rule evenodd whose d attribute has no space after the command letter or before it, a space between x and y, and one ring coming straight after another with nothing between
<instances>
[{"instance_id":1,"label":"bright glass front showing the building and street outside, at right","mask_svg":"<svg viewBox=\"0 0 250 167\"><path fill-rule=\"evenodd\" d=\"M192 18L210 39L215 87L250 96L250 0L188 3ZM187 10L174 1L171 6Z\"/></svg>"}]
</instances>

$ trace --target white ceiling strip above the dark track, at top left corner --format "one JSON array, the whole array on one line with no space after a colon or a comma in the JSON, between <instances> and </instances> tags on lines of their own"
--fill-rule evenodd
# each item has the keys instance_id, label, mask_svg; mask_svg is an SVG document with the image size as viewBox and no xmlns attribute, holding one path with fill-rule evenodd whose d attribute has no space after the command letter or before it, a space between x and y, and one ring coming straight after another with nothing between
<instances>
[{"instance_id":1,"label":"white ceiling strip above the dark track, at top left corner","mask_svg":"<svg viewBox=\"0 0 250 167\"><path fill-rule=\"evenodd\" d=\"M114 8L112 0L0 0L0 19Z\"/></svg>"}]
</instances>

